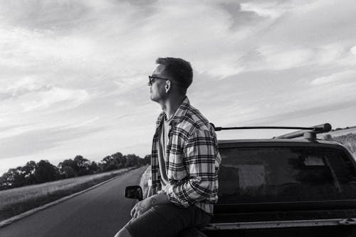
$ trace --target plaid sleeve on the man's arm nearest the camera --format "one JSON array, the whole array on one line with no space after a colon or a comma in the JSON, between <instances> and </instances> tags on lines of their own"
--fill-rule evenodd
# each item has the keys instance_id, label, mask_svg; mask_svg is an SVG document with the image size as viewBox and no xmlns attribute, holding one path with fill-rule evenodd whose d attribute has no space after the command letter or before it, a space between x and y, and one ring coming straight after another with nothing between
<instances>
[{"instance_id":1,"label":"plaid sleeve on the man's arm nearest the camera","mask_svg":"<svg viewBox=\"0 0 356 237\"><path fill-rule=\"evenodd\" d=\"M197 130L185 142L183 152L187 178L167 184L164 193L174 204L188 207L216 196L216 136L209 130Z\"/></svg>"}]
</instances>

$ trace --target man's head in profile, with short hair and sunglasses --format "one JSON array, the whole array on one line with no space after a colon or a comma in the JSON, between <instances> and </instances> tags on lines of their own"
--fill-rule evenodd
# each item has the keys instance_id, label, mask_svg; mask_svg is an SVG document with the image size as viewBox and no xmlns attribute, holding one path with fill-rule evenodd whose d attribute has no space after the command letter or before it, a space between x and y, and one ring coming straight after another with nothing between
<instances>
[{"instance_id":1,"label":"man's head in profile, with short hair and sunglasses","mask_svg":"<svg viewBox=\"0 0 356 237\"><path fill-rule=\"evenodd\" d=\"M187 93L193 81L192 66L181 58L157 58L157 68L152 73L149 85L151 86L151 100L159 102L177 93Z\"/></svg>"}]
</instances>

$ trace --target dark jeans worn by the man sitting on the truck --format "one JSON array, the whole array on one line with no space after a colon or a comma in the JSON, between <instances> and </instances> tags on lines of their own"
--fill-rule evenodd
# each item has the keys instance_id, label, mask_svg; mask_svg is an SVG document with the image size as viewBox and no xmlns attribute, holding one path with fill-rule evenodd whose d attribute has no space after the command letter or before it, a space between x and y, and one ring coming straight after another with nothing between
<instances>
[{"instance_id":1,"label":"dark jeans worn by the man sitting on the truck","mask_svg":"<svg viewBox=\"0 0 356 237\"><path fill-rule=\"evenodd\" d=\"M198 229L209 223L210 219L209 214L194 205L183 208L164 204L153 206L142 216L132 218L124 228L134 237L199 236Z\"/></svg>"}]
</instances>

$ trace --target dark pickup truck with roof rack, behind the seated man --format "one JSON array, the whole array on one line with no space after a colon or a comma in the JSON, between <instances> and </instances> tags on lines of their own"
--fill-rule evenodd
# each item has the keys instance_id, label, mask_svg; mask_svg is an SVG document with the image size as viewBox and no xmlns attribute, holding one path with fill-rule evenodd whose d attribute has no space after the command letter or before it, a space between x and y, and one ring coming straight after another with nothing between
<instances>
[{"instance_id":1,"label":"dark pickup truck with roof rack, behind the seated man","mask_svg":"<svg viewBox=\"0 0 356 237\"><path fill-rule=\"evenodd\" d=\"M234 128L216 127L224 129ZM300 129L271 139L219 140L219 201L206 236L356 236L352 154L317 139L331 130L328 123ZM142 199L142 190L127 187L125 196Z\"/></svg>"}]
</instances>

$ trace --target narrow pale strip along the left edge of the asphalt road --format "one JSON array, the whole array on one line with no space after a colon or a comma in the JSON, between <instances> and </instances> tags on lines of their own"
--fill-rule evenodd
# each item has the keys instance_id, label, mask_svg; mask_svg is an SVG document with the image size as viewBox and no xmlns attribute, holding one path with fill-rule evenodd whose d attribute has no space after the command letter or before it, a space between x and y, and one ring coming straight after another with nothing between
<instances>
[{"instance_id":1,"label":"narrow pale strip along the left edge of the asphalt road","mask_svg":"<svg viewBox=\"0 0 356 237\"><path fill-rule=\"evenodd\" d=\"M140 167L139 167L139 168L140 168ZM139 169L139 168L137 168L137 169ZM3 228L3 227L5 227L5 226L9 226L11 223L14 223L15 221L19 221L19 220L21 220L22 218L25 218L25 217L27 217L27 216L31 216L32 214L35 214L35 213L38 212L38 211L41 211L41 210L43 210L43 209L47 209L47 208L50 207L50 206L54 206L54 205L56 205L56 204L59 204L59 203L61 203L61 202L63 202L63 201L66 201L66 200L71 199L71 198L73 198L73 197L75 197L75 196L78 196L79 194L83 194L83 193L85 193L86 191L90 191L91 189L95 189L96 187L98 187L98 186L100 186L100 185L103 185L103 184L105 184L105 183L108 183L109 181L112 181L113 179L117 179L118 177L121 177L122 174L126 174L127 172L130 172L131 170L133 170L133 169L125 170L125 171L119 173L119 175L117 175L116 177L112 177L111 179L105 180L105 181L103 181L103 182L101 182L101 183L99 183L99 184L95 184L94 186L90 186L88 189L84 189L84 190L82 190L82 191L78 191L78 192L76 192L76 193L74 193L74 194L70 194L69 196L64 196L63 198L58 199L58 200L56 200L56 201L51 201L51 202L49 202L48 204L44 204L43 206L38 206L38 207L36 207L36 208L34 208L34 209L25 211L25 212L23 212L23 213L21 213L21 214L19 214L19 215L17 215L17 216L13 216L13 217L11 217L11 218L7 218L7 219L4 220L4 221L0 221L0 228Z\"/></svg>"}]
</instances>

